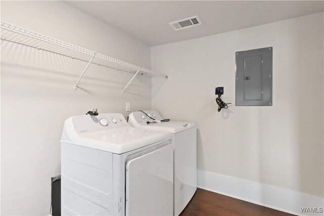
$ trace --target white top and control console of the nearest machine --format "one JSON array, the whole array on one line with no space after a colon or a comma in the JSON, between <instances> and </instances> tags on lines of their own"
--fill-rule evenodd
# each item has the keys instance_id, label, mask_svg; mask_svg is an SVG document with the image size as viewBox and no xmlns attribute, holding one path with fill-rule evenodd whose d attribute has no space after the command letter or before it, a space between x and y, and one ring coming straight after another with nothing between
<instances>
[{"instance_id":1,"label":"white top and control console of the nearest machine","mask_svg":"<svg viewBox=\"0 0 324 216\"><path fill-rule=\"evenodd\" d=\"M103 126L100 122L93 121L88 115L68 118L64 123L61 142L122 154L172 137L169 132L134 128L122 116L113 114L114 118L122 120L116 123L116 125L120 123L120 127L115 128ZM102 114L98 117L110 116ZM79 131L80 125L76 125L79 123L83 123L83 128L88 128L88 130ZM85 125L87 123L89 125Z\"/></svg>"}]
</instances>

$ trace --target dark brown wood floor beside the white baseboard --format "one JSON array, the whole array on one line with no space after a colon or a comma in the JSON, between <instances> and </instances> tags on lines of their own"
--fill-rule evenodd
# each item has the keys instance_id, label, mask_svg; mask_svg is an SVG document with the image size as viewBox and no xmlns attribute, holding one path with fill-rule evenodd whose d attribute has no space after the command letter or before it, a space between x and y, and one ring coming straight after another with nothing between
<instances>
[{"instance_id":1,"label":"dark brown wood floor beside the white baseboard","mask_svg":"<svg viewBox=\"0 0 324 216\"><path fill-rule=\"evenodd\" d=\"M191 201L180 215L291 216L293 214L197 188L197 191L193 195Z\"/></svg>"}]
</instances>

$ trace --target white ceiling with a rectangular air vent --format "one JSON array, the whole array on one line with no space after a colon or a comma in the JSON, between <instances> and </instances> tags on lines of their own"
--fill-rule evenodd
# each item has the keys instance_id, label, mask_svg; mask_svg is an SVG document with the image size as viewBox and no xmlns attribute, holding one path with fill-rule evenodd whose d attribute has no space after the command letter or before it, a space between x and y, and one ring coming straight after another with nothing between
<instances>
[{"instance_id":1,"label":"white ceiling with a rectangular air vent","mask_svg":"<svg viewBox=\"0 0 324 216\"><path fill-rule=\"evenodd\" d=\"M323 1L64 1L150 46L248 28L323 11ZM174 31L198 15L203 25Z\"/></svg>"}]
</instances>

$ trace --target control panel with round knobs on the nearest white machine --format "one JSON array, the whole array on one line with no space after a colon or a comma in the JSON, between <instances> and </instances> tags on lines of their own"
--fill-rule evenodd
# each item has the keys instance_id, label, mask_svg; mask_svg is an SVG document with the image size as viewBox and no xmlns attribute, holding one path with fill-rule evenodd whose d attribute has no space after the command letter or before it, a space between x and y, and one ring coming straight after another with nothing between
<instances>
[{"instance_id":1,"label":"control panel with round knobs on the nearest white machine","mask_svg":"<svg viewBox=\"0 0 324 216\"><path fill-rule=\"evenodd\" d=\"M72 124L78 134L129 126L124 116L120 113L100 113L97 116L73 116Z\"/></svg>"}]
</instances>

